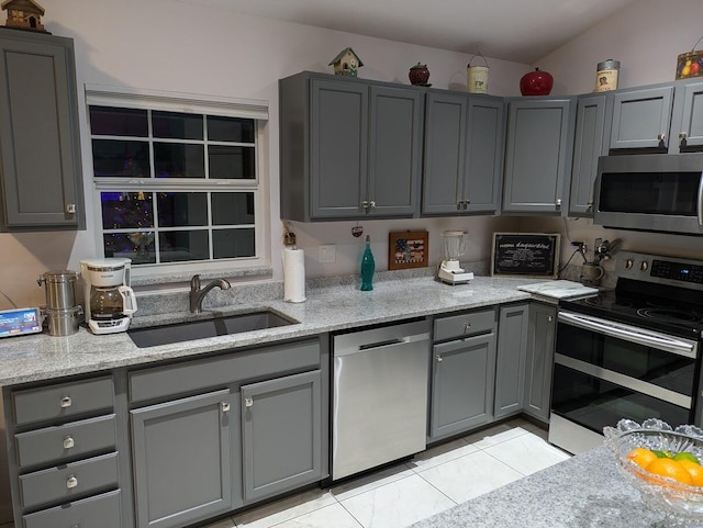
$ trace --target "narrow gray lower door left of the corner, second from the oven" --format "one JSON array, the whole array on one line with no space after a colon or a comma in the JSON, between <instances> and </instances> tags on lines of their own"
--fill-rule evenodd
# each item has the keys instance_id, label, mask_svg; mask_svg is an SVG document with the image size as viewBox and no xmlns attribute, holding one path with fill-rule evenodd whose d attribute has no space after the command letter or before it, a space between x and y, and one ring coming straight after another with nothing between
<instances>
[{"instance_id":1,"label":"narrow gray lower door left of the corner, second from the oven","mask_svg":"<svg viewBox=\"0 0 703 528\"><path fill-rule=\"evenodd\" d=\"M528 319L527 304L501 306L495 360L494 418L502 418L523 409Z\"/></svg>"}]
</instances>

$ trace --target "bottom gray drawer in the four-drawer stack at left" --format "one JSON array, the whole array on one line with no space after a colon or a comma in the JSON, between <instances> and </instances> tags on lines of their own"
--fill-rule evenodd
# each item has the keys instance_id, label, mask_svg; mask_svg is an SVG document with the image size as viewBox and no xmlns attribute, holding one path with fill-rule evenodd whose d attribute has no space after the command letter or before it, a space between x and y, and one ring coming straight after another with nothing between
<instances>
[{"instance_id":1,"label":"bottom gray drawer in the four-drawer stack at left","mask_svg":"<svg viewBox=\"0 0 703 528\"><path fill-rule=\"evenodd\" d=\"M120 490L24 515L24 528L121 528Z\"/></svg>"}]
</instances>

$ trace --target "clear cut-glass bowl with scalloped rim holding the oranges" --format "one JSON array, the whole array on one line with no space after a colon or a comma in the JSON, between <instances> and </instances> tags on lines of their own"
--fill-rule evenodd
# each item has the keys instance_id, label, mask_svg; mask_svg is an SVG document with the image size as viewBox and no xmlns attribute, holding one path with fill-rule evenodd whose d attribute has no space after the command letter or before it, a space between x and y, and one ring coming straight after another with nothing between
<instances>
[{"instance_id":1,"label":"clear cut-glass bowl with scalloped rim holding the oranges","mask_svg":"<svg viewBox=\"0 0 703 528\"><path fill-rule=\"evenodd\" d=\"M657 418L641 425L622 419L617 427L605 427L605 446L617 459L625 479L639 491L643 502L652 510L663 514L666 527L703 524L703 487L682 484L671 478L646 471L628 458L635 448L667 453L689 452L703 462L703 429L681 425L673 429Z\"/></svg>"}]
</instances>

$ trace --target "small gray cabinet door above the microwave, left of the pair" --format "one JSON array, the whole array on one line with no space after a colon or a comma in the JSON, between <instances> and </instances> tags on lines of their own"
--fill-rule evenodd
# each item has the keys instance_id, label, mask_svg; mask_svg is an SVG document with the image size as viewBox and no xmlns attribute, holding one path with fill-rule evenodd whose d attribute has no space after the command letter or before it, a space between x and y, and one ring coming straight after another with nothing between
<instances>
[{"instance_id":1,"label":"small gray cabinet door above the microwave, left of the pair","mask_svg":"<svg viewBox=\"0 0 703 528\"><path fill-rule=\"evenodd\" d=\"M611 149L667 149L673 85L618 91L613 103Z\"/></svg>"}]
</instances>

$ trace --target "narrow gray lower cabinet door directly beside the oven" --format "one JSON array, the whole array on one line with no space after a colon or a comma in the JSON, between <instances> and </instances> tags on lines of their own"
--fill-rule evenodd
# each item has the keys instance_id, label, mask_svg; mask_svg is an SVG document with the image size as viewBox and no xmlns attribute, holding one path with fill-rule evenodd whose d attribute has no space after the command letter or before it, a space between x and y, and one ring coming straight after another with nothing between
<instances>
[{"instance_id":1,"label":"narrow gray lower cabinet door directly beside the oven","mask_svg":"<svg viewBox=\"0 0 703 528\"><path fill-rule=\"evenodd\" d=\"M544 422L549 420L556 324L555 306L539 303L529 305L523 411Z\"/></svg>"}]
</instances>

